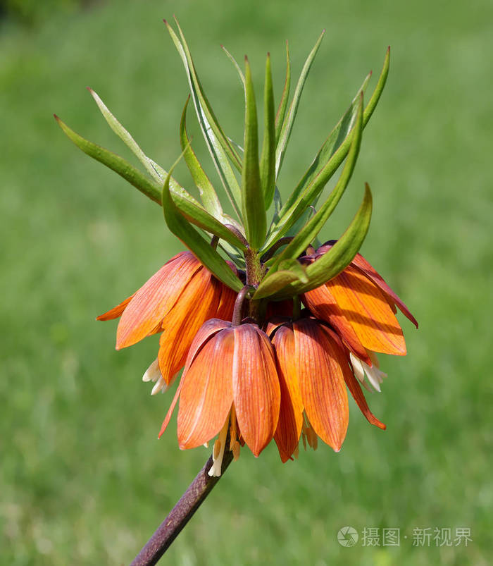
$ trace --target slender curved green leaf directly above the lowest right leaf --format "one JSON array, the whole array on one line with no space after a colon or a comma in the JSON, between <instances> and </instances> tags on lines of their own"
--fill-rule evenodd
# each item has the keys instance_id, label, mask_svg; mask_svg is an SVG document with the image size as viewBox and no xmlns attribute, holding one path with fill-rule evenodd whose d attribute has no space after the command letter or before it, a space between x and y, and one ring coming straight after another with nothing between
<instances>
[{"instance_id":1,"label":"slender curved green leaf directly above the lowest right leaf","mask_svg":"<svg viewBox=\"0 0 493 566\"><path fill-rule=\"evenodd\" d=\"M325 200L323 205L318 209L317 213L306 223L294 240L289 242L289 245L280 254L277 262L273 265L272 270L282 269L281 263L287 258L297 258L299 254L306 250L306 247L313 242L320 230L323 228L330 215L334 211L337 203L341 199L346 187L351 179L358 159L359 149L361 147L361 135L363 133L363 92L361 92L358 104L358 113L356 115L356 125L354 127L354 135L352 136L351 149L347 157L346 164L342 170L341 176L337 181L334 189L329 197Z\"/></svg>"}]
</instances>

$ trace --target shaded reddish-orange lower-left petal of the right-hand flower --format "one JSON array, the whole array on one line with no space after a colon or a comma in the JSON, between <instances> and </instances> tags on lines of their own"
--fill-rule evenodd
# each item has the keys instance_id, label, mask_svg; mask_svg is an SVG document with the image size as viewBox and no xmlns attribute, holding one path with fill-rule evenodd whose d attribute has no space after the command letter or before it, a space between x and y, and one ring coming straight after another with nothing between
<instances>
[{"instance_id":1,"label":"shaded reddish-orange lower-left petal of the right-hand flower","mask_svg":"<svg viewBox=\"0 0 493 566\"><path fill-rule=\"evenodd\" d=\"M308 293L301 295L301 299L316 318L328 322L337 330L339 336L356 357L371 365L368 353L361 344L354 328L326 285L308 291Z\"/></svg>"}]
</instances>

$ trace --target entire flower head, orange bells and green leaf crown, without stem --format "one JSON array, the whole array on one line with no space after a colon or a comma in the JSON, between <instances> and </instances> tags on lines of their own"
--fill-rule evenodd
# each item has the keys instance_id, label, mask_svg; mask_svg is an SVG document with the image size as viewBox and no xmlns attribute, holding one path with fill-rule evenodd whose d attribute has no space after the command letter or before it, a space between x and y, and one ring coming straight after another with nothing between
<instances>
[{"instance_id":1,"label":"entire flower head, orange bells and green leaf crown, without stem","mask_svg":"<svg viewBox=\"0 0 493 566\"><path fill-rule=\"evenodd\" d=\"M368 421L385 429L370 412L361 386L380 391L385 374L377 353L406 354L397 309L417 326L404 302L358 253L370 223L368 185L361 207L339 240L316 243L351 178L363 128L385 85L389 51L368 104L363 104L363 93L370 75L282 204L277 178L323 34L308 55L290 104L287 51L277 112L267 57L259 156L248 60L243 73L227 53L244 87L240 148L220 128L180 27L176 35L166 25L185 65L199 125L235 216L224 213L192 150L186 128L188 100L180 122L181 158L200 201L171 176L174 166L165 171L144 154L90 90L106 121L142 161L146 173L80 137L57 118L61 128L80 149L161 204L168 228L189 248L98 319L120 317L117 349L160 333L158 354L144 381L154 382L153 394L164 392L183 370L160 436L178 404L180 448L208 445L217 437L210 475L220 475L225 450L236 459L246 445L258 456L273 439L282 462L297 457L300 439L305 448L316 448L320 438L339 451L349 419L347 390ZM318 204L344 159L335 187ZM273 211L269 221L268 211Z\"/></svg>"}]
</instances>

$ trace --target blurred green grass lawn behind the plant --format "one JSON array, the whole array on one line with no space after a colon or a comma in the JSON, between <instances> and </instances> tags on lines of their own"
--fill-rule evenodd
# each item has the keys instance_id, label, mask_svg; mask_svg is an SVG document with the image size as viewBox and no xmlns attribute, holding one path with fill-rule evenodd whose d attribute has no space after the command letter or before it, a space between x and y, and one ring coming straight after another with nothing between
<instances>
[{"instance_id":1,"label":"blurred green grass lawn behind the plant","mask_svg":"<svg viewBox=\"0 0 493 566\"><path fill-rule=\"evenodd\" d=\"M172 394L151 398L141 381L156 339L116 352L116 324L94 321L180 242L155 204L79 152L52 117L127 156L90 85L147 154L173 163L187 83L161 20L175 13L237 139L242 92L219 44L237 59L249 54L258 93L270 51L279 97L285 39L297 75L326 28L285 191L391 44L387 88L324 235L340 235L368 181L374 214L363 254L420 329L401 317L408 356L382 359L389 378L369 399L387 431L351 402L339 454L320 446L282 465L275 445L257 460L243 450L163 563L488 564L492 3L52 0L0 9L0 563L130 562L208 457L178 450L175 424L157 441ZM398 528L400 546L360 539L343 548L337 531L348 525L360 536ZM473 541L413 546L413 529L435 527L452 536L469 528Z\"/></svg>"}]
</instances>

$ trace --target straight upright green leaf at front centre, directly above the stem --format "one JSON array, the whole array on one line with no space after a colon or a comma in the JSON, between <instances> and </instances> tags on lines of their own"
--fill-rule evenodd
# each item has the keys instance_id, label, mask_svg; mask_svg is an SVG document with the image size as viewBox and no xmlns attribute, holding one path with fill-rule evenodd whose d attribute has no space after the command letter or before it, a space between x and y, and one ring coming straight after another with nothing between
<instances>
[{"instance_id":1,"label":"straight upright green leaf at front centre, directly above the stem","mask_svg":"<svg viewBox=\"0 0 493 566\"><path fill-rule=\"evenodd\" d=\"M258 130L254 85L251 70L245 57L245 140L242 171L242 212L246 240L253 250L258 250L266 238L266 209L258 166Z\"/></svg>"}]
</instances>

